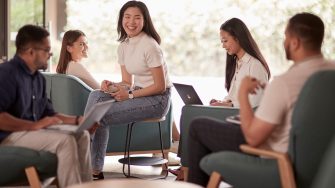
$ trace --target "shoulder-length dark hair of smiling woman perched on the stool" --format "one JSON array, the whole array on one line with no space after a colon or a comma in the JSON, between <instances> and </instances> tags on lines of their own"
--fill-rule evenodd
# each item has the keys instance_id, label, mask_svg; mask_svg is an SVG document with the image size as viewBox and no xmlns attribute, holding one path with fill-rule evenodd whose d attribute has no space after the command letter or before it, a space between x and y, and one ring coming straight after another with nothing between
<instances>
[{"instance_id":1,"label":"shoulder-length dark hair of smiling woman perched on the stool","mask_svg":"<svg viewBox=\"0 0 335 188\"><path fill-rule=\"evenodd\" d=\"M128 1L126 4L124 4L119 12L119 18L118 18L118 23L117 23L117 33L119 34L118 41L123 42L127 38L127 33L122 27L122 19L124 16L124 12L129 8L129 7L137 7L141 10L143 14L143 19L144 19L144 26L143 30L147 35L151 36L154 38L158 44L161 43L161 37L157 33L150 17L149 10L147 6L142 3L141 1Z\"/></svg>"}]
</instances>

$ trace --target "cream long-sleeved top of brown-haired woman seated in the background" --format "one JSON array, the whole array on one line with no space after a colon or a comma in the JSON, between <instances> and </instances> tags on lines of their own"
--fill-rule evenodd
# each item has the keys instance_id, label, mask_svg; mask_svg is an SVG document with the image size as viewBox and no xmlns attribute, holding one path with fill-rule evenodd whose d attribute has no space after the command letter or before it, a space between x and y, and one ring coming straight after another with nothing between
<instances>
[{"instance_id":1,"label":"cream long-sleeved top of brown-haired woman seated in the background","mask_svg":"<svg viewBox=\"0 0 335 188\"><path fill-rule=\"evenodd\" d=\"M80 78L92 89L100 89L99 83L93 78L93 76L87 71L87 69L79 62L70 61L66 74L73 75Z\"/></svg>"}]
</instances>

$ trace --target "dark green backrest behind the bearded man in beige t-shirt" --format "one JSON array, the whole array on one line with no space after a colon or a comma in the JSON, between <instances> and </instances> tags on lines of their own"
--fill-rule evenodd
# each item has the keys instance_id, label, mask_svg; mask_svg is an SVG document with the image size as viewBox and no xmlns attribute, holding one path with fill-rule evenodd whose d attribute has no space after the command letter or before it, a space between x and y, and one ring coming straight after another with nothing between
<instances>
[{"instance_id":1,"label":"dark green backrest behind the bearded man in beige t-shirt","mask_svg":"<svg viewBox=\"0 0 335 188\"><path fill-rule=\"evenodd\" d=\"M310 187L335 134L335 71L312 75L292 114L289 156L297 187Z\"/></svg>"}]
</instances>

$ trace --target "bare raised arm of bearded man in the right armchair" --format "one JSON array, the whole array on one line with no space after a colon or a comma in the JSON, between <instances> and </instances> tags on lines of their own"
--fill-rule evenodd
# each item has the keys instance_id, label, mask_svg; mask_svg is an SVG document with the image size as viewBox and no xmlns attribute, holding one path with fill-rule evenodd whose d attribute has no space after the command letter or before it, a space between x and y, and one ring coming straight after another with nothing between
<instances>
[{"instance_id":1,"label":"bare raised arm of bearded man in the right armchair","mask_svg":"<svg viewBox=\"0 0 335 188\"><path fill-rule=\"evenodd\" d=\"M251 77L242 80L239 90L241 128L247 143L257 147L273 132L275 125L254 116L248 94L255 93L257 88L264 87L259 81Z\"/></svg>"}]
</instances>

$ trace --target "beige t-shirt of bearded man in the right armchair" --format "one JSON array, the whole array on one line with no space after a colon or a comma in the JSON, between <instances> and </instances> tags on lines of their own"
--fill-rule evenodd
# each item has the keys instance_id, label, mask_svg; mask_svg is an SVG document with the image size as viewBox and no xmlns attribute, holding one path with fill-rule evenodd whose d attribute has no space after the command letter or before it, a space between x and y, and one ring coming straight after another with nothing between
<instances>
[{"instance_id":1,"label":"beige t-shirt of bearded man in the right armchair","mask_svg":"<svg viewBox=\"0 0 335 188\"><path fill-rule=\"evenodd\" d=\"M325 61L322 56L313 57L293 65L266 86L255 115L274 124L276 128L261 148L287 152L291 117L297 97L306 80L322 69L335 69L335 64Z\"/></svg>"}]
</instances>

